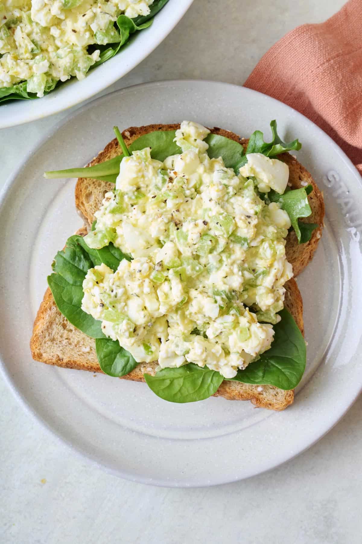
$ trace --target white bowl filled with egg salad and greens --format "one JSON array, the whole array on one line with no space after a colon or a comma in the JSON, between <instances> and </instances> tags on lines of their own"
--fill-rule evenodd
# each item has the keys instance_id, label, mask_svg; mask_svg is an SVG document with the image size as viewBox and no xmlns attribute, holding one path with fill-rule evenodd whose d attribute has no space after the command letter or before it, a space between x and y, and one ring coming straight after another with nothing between
<instances>
[{"instance_id":1,"label":"white bowl filled with egg salad and greens","mask_svg":"<svg viewBox=\"0 0 362 544\"><path fill-rule=\"evenodd\" d=\"M193 0L3 0L0 128L60 112L154 50Z\"/></svg>"}]
</instances>

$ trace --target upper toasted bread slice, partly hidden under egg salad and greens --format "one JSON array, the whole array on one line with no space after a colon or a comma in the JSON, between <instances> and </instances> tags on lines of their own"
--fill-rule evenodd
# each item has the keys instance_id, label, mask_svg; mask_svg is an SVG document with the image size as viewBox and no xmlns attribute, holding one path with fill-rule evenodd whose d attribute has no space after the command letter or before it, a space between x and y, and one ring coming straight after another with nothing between
<instances>
[{"instance_id":1,"label":"upper toasted bread slice, partly hidden under egg salad and greens","mask_svg":"<svg viewBox=\"0 0 362 544\"><path fill-rule=\"evenodd\" d=\"M122 135L127 146L131 145L134 140L154 131L175 131L180 128L180 125L147 125L144 127L130 127L123 131ZM240 138L233 132L226 131L221 128L212 128L213 134L220 134L231 140L238 141L242 144L246 150L247 142L249 140ZM98 156L94 158L88 166L93 166L104 162L105 160L116 157L120 154L120 147L117 139L110 141L103 151L100 151ZM310 207L312 208L312 215L303 221L308 223L315 223L319 225L312 233L312 237L306 244L299 244L294 230L291 230L287 237L287 244L285 245L285 253L288 261L293 266L294 276L296 277L307 266L309 261L313 258L314 252L317 249L319 239L321 237L323 228L323 218L325 214L325 207L323 202L323 196L317 184L313 180L312 175L302 166L292 155L289 153L282 153L279 156L289 166L289 184L293 189L299 189L305 187L307 184L313 186L313 191L308 196ZM100 208L103 197L107 191L111 191L115 188L114 183L107 183L99 180L92 180L90 178L80 177L77 185L75 186L75 206L78 208L82 217L84 217L88 226L92 225L94 221L94 213Z\"/></svg>"}]
</instances>

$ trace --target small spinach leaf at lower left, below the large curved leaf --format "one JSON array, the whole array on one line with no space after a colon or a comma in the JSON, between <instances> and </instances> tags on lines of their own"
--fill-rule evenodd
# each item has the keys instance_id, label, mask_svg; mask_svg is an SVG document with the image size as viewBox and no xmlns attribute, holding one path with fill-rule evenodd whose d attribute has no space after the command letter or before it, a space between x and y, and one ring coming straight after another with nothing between
<instances>
[{"instance_id":1,"label":"small spinach leaf at lower left, below the large curved leaf","mask_svg":"<svg viewBox=\"0 0 362 544\"><path fill-rule=\"evenodd\" d=\"M115 378L128 374L138 364L129 351L111 338L97 338L96 353L103 372Z\"/></svg>"}]
</instances>

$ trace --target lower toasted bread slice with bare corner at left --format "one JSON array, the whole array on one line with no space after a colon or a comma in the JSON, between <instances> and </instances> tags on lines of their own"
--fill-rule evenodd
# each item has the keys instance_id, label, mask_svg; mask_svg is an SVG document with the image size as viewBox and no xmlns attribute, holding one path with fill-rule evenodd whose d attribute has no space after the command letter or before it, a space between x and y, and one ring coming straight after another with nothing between
<instances>
[{"instance_id":1,"label":"lower toasted bread slice with bare corner at left","mask_svg":"<svg viewBox=\"0 0 362 544\"><path fill-rule=\"evenodd\" d=\"M84 236L86 229L78 234ZM303 302L294 279L285 284L285 307L293 315L296 324L304 335ZM30 341L31 354L35 361L53 364L59 367L102 372L97 355L96 343L76 329L60 313L56 307L50 289L46 290L43 301L34 322L33 336ZM144 381L143 374L155 374L157 362L139 363L126 376L125 380ZM239 382L223 381L215 397L225 397L228 400L251 400L258 407L270 410L284 410L293 403L294 391L283 391L272 385L250 385Z\"/></svg>"}]
</instances>

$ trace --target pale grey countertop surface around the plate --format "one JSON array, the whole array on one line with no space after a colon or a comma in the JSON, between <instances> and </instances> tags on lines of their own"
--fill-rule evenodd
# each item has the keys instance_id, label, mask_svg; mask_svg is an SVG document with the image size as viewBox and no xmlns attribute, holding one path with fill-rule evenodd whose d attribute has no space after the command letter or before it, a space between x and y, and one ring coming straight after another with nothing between
<instances>
[{"instance_id":1,"label":"pale grey countertop surface around the plate","mask_svg":"<svg viewBox=\"0 0 362 544\"><path fill-rule=\"evenodd\" d=\"M157 50L107 92L173 78L243 84L288 30L321 22L343 4L195 0ZM68 113L0 131L0 184L20 155ZM43 430L2 381L0 394L1 542L360 542L361 397L327 436L274 471L182 490L134 484L101 471Z\"/></svg>"}]
</instances>

